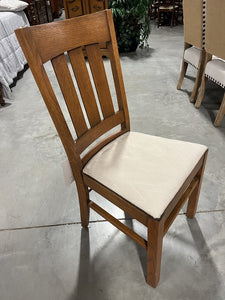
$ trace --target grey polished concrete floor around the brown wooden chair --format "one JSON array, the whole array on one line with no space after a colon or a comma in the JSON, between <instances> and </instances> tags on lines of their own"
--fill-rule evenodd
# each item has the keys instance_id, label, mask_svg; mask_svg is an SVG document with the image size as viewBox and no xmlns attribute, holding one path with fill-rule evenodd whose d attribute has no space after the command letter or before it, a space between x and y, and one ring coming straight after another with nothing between
<instances>
[{"instance_id":1,"label":"grey polished concrete floor around the brown wooden chair","mask_svg":"<svg viewBox=\"0 0 225 300\"><path fill-rule=\"evenodd\" d=\"M121 55L131 129L209 147L196 218L186 219L183 208L168 231L158 287L145 283L146 253L123 233L95 213L89 230L81 229L75 184L64 182L64 150L27 70L15 99L0 108L1 300L224 299L225 120L213 126L223 90L209 83L195 109L194 69L176 90L182 50L182 26L153 24L149 50Z\"/></svg>"}]
</instances>

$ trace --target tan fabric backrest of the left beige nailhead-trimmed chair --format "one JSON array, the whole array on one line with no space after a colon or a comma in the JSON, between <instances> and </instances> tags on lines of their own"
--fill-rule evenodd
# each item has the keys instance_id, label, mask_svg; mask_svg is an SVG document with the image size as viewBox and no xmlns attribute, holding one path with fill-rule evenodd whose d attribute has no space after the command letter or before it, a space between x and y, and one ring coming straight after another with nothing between
<instances>
[{"instance_id":1,"label":"tan fabric backrest of the left beige nailhead-trimmed chair","mask_svg":"<svg viewBox=\"0 0 225 300\"><path fill-rule=\"evenodd\" d=\"M184 41L203 47L203 3L205 0L183 0Z\"/></svg>"}]
</instances>

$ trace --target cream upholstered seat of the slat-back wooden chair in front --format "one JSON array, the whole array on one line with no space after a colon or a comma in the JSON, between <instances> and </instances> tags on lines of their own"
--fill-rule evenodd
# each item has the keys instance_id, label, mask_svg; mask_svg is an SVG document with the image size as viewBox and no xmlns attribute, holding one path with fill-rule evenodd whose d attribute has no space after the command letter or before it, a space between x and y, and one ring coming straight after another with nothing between
<instances>
[{"instance_id":1,"label":"cream upholstered seat of the slat-back wooden chair in front","mask_svg":"<svg viewBox=\"0 0 225 300\"><path fill-rule=\"evenodd\" d=\"M83 172L160 218L207 147L129 132L102 148Z\"/></svg>"}]
</instances>

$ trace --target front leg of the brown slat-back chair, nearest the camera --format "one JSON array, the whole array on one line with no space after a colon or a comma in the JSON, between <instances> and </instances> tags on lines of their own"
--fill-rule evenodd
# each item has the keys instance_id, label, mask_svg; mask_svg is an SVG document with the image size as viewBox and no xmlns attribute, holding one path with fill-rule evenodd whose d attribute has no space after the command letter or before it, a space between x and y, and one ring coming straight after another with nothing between
<instances>
[{"instance_id":1,"label":"front leg of the brown slat-back chair, nearest the camera","mask_svg":"<svg viewBox=\"0 0 225 300\"><path fill-rule=\"evenodd\" d=\"M164 220L149 217L147 246L147 283L156 287L160 278Z\"/></svg>"}]
</instances>

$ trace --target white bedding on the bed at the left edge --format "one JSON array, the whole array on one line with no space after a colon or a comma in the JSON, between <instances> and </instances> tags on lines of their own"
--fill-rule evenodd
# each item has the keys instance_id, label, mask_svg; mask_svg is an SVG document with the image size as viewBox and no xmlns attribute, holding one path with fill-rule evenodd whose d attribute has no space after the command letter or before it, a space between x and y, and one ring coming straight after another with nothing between
<instances>
[{"instance_id":1,"label":"white bedding on the bed at the left edge","mask_svg":"<svg viewBox=\"0 0 225 300\"><path fill-rule=\"evenodd\" d=\"M4 98L11 99L9 85L27 63L14 30L29 26L23 11L0 12L0 85Z\"/></svg>"}]
</instances>

